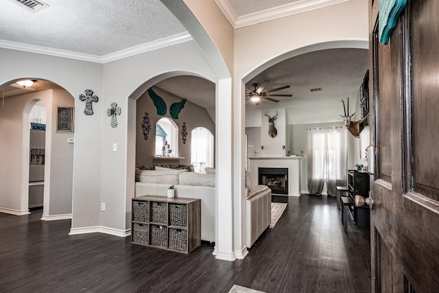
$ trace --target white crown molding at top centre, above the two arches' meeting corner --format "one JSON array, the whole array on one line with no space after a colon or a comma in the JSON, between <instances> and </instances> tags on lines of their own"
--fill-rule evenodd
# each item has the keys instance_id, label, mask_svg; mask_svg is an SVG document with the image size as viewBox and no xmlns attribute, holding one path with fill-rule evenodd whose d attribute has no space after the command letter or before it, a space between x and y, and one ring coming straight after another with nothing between
<instances>
[{"instance_id":1,"label":"white crown molding at top centre, above the two arches' meeting corner","mask_svg":"<svg viewBox=\"0 0 439 293\"><path fill-rule=\"evenodd\" d=\"M310 10L316 10L324 8L330 5L336 5L351 0L302 0L286 5L278 6L276 8L270 8L261 12L255 12L244 16L236 16L233 9L227 0L215 0L219 9L222 10L226 18L237 29L239 27L246 27L248 25L254 25L257 23L263 23L265 21L272 21L274 19L280 19L281 17L290 16Z\"/></svg>"}]
</instances>

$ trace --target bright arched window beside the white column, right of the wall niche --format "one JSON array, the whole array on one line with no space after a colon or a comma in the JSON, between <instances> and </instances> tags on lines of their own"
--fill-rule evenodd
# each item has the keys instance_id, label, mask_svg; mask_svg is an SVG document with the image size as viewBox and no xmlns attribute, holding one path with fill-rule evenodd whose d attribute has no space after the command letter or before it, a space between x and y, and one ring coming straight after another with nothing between
<instances>
[{"instance_id":1,"label":"bright arched window beside the white column, right of the wall niche","mask_svg":"<svg viewBox=\"0 0 439 293\"><path fill-rule=\"evenodd\" d=\"M191 132L191 163L195 172L204 173L205 167L213 167L213 134L204 127Z\"/></svg>"}]
</instances>

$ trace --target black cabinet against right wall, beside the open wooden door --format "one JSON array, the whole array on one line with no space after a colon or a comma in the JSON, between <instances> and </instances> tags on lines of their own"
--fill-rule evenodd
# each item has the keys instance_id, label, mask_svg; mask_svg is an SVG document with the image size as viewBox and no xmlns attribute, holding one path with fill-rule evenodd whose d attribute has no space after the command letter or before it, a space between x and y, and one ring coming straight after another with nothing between
<instances>
[{"instance_id":1,"label":"black cabinet against right wall, beside the open wooden door","mask_svg":"<svg viewBox=\"0 0 439 293\"><path fill-rule=\"evenodd\" d=\"M369 177L367 172L359 172L356 170L348 170L348 192L352 201L355 202L355 196L369 197ZM370 226L370 209L367 204L363 207L351 207L351 215L357 226Z\"/></svg>"}]
</instances>

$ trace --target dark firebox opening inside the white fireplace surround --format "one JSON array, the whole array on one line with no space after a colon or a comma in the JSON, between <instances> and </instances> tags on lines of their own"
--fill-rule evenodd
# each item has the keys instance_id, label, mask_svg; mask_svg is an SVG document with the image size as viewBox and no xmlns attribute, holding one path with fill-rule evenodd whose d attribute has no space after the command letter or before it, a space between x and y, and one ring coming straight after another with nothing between
<instances>
[{"instance_id":1,"label":"dark firebox opening inside the white fireplace surround","mask_svg":"<svg viewBox=\"0 0 439 293\"><path fill-rule=\"evenodd\" d=\"M288 194L288 168L258 168L259 185L267 185L272 194Z\"/></svg>"}]
</instances>

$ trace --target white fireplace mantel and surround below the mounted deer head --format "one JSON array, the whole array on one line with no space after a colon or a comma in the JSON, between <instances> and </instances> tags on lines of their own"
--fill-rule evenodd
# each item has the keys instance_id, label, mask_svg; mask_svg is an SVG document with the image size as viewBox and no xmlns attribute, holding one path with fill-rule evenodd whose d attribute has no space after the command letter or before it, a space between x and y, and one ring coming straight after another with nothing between
<instances>
[{"instance_id":1,"label":"white fireplace mantel and surround below the mounted deer head","mask_svg":"<svg viewBox=\"0 0 439 293\"><path fill-rule=\"evenodd\" d=\"M259 168L288 168L288 195L300 196L301 156L250 156L247 159L252 186L258 185Z\"/></svg>"}]
</instances>

